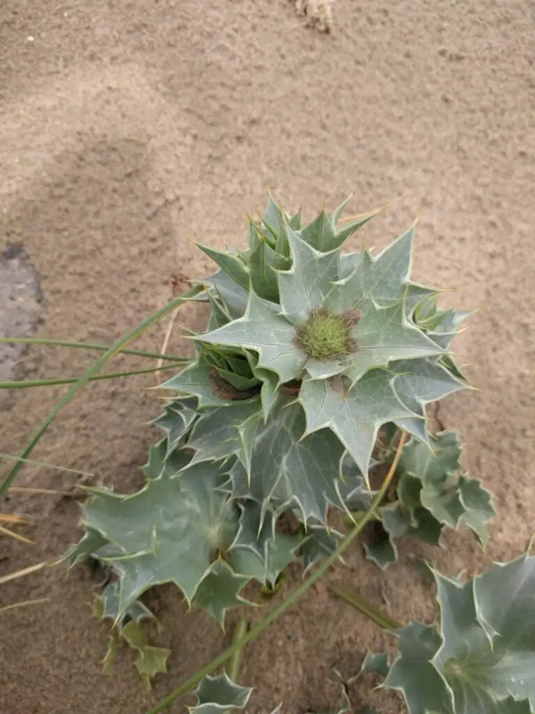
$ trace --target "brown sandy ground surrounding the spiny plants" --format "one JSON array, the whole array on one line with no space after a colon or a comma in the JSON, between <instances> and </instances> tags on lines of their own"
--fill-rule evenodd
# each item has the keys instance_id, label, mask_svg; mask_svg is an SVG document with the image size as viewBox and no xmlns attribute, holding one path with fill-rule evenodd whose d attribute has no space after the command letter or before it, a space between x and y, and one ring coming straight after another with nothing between
<instances>
[{"instance_id":1,"label":"brown sandy ground surrounding the spiny plants","mask_svg":"<svg viewBox=\"0 0 535 714\"><path fill-rule=\"evenodd\" d=\"M479 308L456 347L482 391L450 398L442 418L467 442L471 473L496 493L489 555L517 555L535 509L534 14L531 0L338 0L332 33L321 34L289 0L4 0L0 248L21 243L39 276L39 333L115 341L168 300L172 273L208 270L187 236L240 243L267 186L305 213L351 190L355 212L401 197L367 240L384 245L419 213L415 276L455 288L447 303ZM191 308L181 318L200 319ZM164 327L140 348L158 348ZM19 358L19 377L35 378L80 373L90 356L32 348ZM139 364L118 358L115 367L127 363ZM133 488L155 438L152 384L141 376L86 388L35 457ZM18 453L63 391L4 399L1 451ZM26 468L19 485L75 478ZM9 508L34 517L25 533L37 545L2 538L1 574L78 538L79 509L67 498L14 495ZM399 618L429 618L432 591L409 555L448 573L487 557L467 533L445 544L403 545L385 575L356 548L330 580L387 600ZM173 654L170 674L145 695L128 653L116 678L100 674L108 628L88 605L95 584L83 568L68 577L54 568L2 588L0 604L51 598L2 615L3 714L141 714L230 638L203 613L186 617L173 588L151 595L158 642ZM367 648L385 645L322 582L248 647L250 711L281 699L288 713L328 710L330 668L355 672ZM355 712L375 697L368 685L352 692ZM374 702L382 714L402 708L392 696Z\"/></svg>"}]
</instances>

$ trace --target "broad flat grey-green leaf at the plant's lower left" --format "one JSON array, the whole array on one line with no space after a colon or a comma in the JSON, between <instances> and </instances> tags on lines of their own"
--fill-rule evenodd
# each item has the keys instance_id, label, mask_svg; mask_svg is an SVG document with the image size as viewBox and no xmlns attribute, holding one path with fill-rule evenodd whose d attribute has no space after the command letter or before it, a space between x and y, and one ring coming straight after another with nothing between
<instances>
[{"instance_id":1,"label":"broad flat grey-green leaf at the plant's lower left","mask_svg":"<svg viewBox=\"0 0 535 714\"><path fill-rule=\"evenodd\" d=\"M119 575L118 612L153 585L173 582L191 601L210 570L210 555L232 543L238 510L217 490L219 466L200 463L173 478L156 479L131 496L93 489L86 525L113 545L105 558ZM78 546L84 553L82 539ZM77 548L71 551L76 559Z\"/></svg>"}]
</instances>

